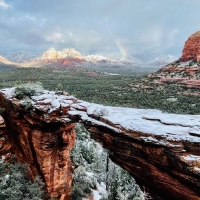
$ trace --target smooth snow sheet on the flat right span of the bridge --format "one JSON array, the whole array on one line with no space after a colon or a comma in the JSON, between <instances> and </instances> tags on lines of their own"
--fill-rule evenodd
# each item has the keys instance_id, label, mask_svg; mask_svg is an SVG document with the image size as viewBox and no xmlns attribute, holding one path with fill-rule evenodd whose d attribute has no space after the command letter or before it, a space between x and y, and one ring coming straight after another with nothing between
<instances>
[{"instance_id":1,"label":"smooth snow sheet on the flat right span of the bridge","mask_svg":"<svg viewBox=\"0 0 200 200\"><path fill-rule=\"evenodd\" d=\"M96 109L107 110L102 119L119 129L159 135L174 141L200 142L200 137L190 135L200 135L200 115L169 114L153 109L110 107L88 102L82 102L80 105L87 107L88 115L94 114Z\"/></svg>"}]
</instances>

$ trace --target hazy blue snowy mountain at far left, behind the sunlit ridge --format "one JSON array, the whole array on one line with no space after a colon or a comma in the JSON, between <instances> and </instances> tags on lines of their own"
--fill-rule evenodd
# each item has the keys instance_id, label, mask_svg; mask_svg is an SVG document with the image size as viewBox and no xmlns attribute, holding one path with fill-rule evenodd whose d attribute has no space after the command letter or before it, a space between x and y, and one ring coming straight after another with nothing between
<instances>
[{"instance_id":1,"label":"hazy blue snowy mountain at far left, behind the sunlit ridge","mask_svg":"<svg viewBox=\"0 0 200 200\"><path fill-rule=\"evenodd\" d=\"M17 62L17 63L29 62L31 60L36 59L39 56L38 54L27 53L24 51L9 53L9 54L0 53L0 55L7 58L11 62Z\"/></svg>"}]
</instances>

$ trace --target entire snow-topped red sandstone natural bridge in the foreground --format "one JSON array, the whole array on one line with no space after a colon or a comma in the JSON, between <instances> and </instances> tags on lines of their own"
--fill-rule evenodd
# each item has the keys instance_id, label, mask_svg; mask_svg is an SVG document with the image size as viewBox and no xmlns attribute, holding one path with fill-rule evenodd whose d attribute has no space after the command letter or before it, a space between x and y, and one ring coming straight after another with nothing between
<instances>
[{"instance_id":1,"label":"entire snow-topped red sandstone natural bridge in the foreground","mask_svg":"<svg viewBox=\"0 0 200 200\"><path fill-rule=\"evenodd\" d=\"M199 115L108 107L46 90L24 101L13 88L0 91L0 106L0 155L29 163L52 197L70 199L70 151L81 122L153 199L200 200Z\"/></svg>"}]
</instances>

